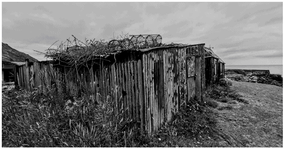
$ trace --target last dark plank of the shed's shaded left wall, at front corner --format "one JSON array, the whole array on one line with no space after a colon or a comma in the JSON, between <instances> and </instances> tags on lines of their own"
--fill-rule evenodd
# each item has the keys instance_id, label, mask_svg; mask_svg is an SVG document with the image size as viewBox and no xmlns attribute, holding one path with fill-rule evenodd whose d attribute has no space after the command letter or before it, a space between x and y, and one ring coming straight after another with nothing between
<instances>
[{"instance_id":1,"label":"last dark plank of the shed's shaded left wall, at front corner","mask_svg":"<svg viewBox=\"0 0 285 149\"><path fill-rule=\"evenodd\" d=\"M137 85L138 85L138 92L139 92L139 114L140 114L140 130L144 129L145 122L145 113L144 113L144 101L143 101L143 90L142 90L142 70L141 70L141 61L140 59L137 61Z\"/></svg>"}]
</instances>

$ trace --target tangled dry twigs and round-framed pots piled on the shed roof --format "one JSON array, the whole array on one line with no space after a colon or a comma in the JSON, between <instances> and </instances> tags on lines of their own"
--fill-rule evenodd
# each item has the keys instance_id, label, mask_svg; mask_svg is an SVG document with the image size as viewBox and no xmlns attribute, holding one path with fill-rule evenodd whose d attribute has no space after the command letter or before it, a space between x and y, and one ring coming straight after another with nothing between
<instances>
[{"instance_id":1,"label":"tangled dry twigs and round-framed pots piled on the shed roof","mask_svg":"<svg viewBox=\"0 0 285 149\"><path fill-rule=\"evenodd\" d=\"M72 35L73 36L73 35ZM85 40L80 41L75 36L74 40L67 39L56 48L49 48L45 53L46 57L53 60L63 60L71 65L80 65L89 60L107 54L114 54L121 50L136 50L141 48L159 47L162 45L160 35L128 35L121 36L109 42L104 40Z\"/></svg>"}]
</instances>

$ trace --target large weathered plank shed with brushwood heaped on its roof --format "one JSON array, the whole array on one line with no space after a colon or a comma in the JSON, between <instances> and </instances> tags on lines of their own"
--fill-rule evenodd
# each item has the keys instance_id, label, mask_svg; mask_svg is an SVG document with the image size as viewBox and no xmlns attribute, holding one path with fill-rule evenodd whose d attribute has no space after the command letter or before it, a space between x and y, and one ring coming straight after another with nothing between
<instances>
[{"instance_id":1,"label":"large weathered plank shed with brushwood heaped on its roof","mask_svg":"<svg viewBox=\"0 0 285 149\"><path fill-rule=\"evenodd\" d=\"M66 93L83 94L113 103L120 118L140 123L141 130L152 133L172 119L187 100L202 100L205 94L204 44L169 45L117 50L93 55L92 60L72 71L68 57L53 61L51 78L64 83ZM95 63L91 64L91 61ZM39 62L26 63L31 76L48 69ZM31 75L35 74L35 75ZM29 80L26 79L26 80ZM43 83L33 84L35 87ZM32 88L30 88L32 90ZM102 98L103 97L103 98ZM124 111L124 112L122 112Z\"/></svg>"}]
</instances>

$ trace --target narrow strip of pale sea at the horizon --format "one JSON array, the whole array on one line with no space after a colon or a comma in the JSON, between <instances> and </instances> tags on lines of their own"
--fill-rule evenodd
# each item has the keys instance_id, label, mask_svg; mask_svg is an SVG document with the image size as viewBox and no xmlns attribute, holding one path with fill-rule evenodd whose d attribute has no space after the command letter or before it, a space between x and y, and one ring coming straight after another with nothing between
<instances>
[{"instance_id":1,"label":"narrow strip of pale sea at the horizon","mask_svg":"<svg viewBox=\"0 0 285 149\"><path fill-rule=\"evenodd\" d=\"M283 77L283 65L225 65L225 69L269 70L271 74L279 74Z\"/></svg>"}]
</instances>

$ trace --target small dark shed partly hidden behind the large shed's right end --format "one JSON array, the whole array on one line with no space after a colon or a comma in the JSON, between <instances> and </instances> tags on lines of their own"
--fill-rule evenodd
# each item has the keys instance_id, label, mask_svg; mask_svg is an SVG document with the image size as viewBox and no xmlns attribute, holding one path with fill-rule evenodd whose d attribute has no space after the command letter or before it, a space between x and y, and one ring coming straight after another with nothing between
<instances>
[{"instance_id":1,"label":"small dark shed partly hidden behind the large shed's right end","mask_svg":"<svg viewBox=\"0 0 285 149\"><path fill-rule=\"evenodd\" d=\"M215 84L225 78L225 62L216 55L210 48L204 48L205 54L205 82Z\"/></svg>"}]
</instances>

